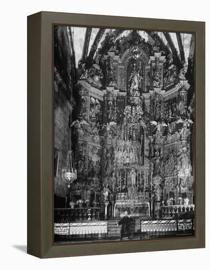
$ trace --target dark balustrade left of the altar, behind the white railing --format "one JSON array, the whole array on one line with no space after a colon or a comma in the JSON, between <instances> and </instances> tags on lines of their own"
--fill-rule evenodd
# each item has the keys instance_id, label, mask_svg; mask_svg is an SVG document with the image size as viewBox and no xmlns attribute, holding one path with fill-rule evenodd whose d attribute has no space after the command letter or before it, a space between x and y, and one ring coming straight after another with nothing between
<instances>
[{"instance_id":1,"label":"dark balustrade left of the altar, behind the white railing","mask_svg":"<svg viewBox=\"0 0 210 270\"><path fill-rule=\"evenodd\" d=\"M98 207L91 208L57 208L55 209L55 222L73 222L99 220Z\"/></svg>"}]
</instances>

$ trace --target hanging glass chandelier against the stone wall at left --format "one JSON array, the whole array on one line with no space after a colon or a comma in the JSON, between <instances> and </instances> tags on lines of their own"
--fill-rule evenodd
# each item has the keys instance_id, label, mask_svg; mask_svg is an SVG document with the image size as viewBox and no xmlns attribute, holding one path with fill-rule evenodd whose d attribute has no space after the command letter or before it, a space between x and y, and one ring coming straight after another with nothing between
<instances>
[{"instance_id":1,"label":"hanging glass chandelier against the stone wall at left","mask_svg":"<svg viewBox=\"0 0 210 270\"><path fill-rule=\"evenodd\" d=\"M65 166L62 168L62 180L66 182L68 184L68 188L70 188L70 184L76 179L77 169L75 167L74 157L72 151L68 151Z\"/></svg>"}]
</instances>

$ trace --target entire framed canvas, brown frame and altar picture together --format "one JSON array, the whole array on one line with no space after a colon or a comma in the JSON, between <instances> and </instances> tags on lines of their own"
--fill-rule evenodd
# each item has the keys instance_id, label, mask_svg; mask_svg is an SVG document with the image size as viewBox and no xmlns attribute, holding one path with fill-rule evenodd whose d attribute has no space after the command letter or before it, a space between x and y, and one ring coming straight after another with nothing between
<instances>
[{"instance_id":1,"label":"entire framed canvas, brown frame and altar picture together","mask_svg":"<svg viewBox=\"0 0 210 270\"><path fill-rule=\"evenodd\" d=\"M204 44L201 22L28 17L30 254L204 246Z\"/></svg>"}]
</instances>

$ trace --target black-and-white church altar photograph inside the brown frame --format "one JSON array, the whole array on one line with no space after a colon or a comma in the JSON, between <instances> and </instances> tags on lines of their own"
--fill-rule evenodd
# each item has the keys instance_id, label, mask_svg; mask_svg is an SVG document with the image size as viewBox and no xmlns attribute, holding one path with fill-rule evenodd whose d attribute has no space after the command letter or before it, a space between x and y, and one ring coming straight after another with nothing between
<instances>
[{"instance_id":1,"label":"black-and-white church altar photograph inside the brown frame","mask_svg":"<svg viewBox=\"0 0 210 270\"><path fill-rule=\"evenodd\" d=\"M195 35L53 38L54 243L194 236Z\"/></svg>"}]
</instances>

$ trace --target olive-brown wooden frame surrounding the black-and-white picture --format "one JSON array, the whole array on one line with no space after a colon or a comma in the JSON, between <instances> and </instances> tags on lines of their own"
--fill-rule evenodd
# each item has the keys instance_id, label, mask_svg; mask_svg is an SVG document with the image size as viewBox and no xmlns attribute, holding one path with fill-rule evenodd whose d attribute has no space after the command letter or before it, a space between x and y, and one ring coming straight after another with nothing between
<instances>
[{"instance_id":1,"label":"olive-brown wooden frame surrounding the black-and-white picture","mask_svg":"<svg viewBox=\"0 0 210 270\"><path fill-rule=\"evenodd\" d=\"M195 236L54 244L53 29L55 25L195 34ZM39 258L205 247L205 23L39 12L28 17L28 253Z\"/></svg>"}]
</instances>

